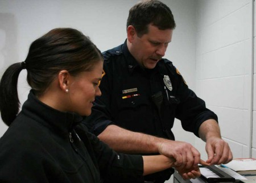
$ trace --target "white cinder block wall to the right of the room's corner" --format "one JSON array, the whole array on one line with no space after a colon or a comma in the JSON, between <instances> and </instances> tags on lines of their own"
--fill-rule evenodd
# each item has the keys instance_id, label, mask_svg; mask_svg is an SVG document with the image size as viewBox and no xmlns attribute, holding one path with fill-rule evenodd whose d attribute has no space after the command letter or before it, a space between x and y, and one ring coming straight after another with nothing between
<instances>
[{"instance_id":1,"label":"white cinder block wall to the right of the room's corner","mask_svg":"<svg viewBox=\"0 0 256 183\"><path fill-rule=\"evenodd\" d=\"M197 94L218 114L233 156L250 157L253 1L199 0L196 7ZM196 147L204 143L196 139Z\"/></svg>"}]
</instances>

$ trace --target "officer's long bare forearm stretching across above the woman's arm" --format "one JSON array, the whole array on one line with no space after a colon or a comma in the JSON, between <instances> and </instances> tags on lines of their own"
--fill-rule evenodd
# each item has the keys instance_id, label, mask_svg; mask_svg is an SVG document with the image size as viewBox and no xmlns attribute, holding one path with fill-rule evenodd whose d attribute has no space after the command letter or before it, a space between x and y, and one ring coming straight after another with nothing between
<instances>
[{"instance_id":1,"label":"officer's long bare forearm stretching across above the woman's arm","mask_svg":"<svg viewBox=\"0 0 256 183\"><path fill-rule=\"evenodd\" d=\"M155 153L164 139L109 125L98 138L117 152Z\"/></svg>"}]
</instances>

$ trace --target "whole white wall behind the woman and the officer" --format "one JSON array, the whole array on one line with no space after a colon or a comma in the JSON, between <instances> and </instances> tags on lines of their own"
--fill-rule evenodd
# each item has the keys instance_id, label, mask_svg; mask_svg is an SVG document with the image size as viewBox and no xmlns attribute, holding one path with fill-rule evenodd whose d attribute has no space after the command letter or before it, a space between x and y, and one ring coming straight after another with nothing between
<instances>
[{"instance_id":1,"label":"whole white wall behind the woman and the officer","mask_svg":"<svg viewBox=\"0 0 256 183\"><path fill-rule=\"evenodd\" d=\"M77 28L101 51L123 43L128 11L136 2L0 0L0 75L10 64L26 59L31 42L52 28ZM252 108L251 103L256 103L252 94L253 75L256 77L256 66L252 70L253 0L163 2L171 8L177 24L166 58L216 112L234 157L249 157L251 153L256 157L256 105ZM18 87L23 103L29 90L26 71L20 74ZM253 93L256 96L255 89ZM2 136L7 127L0 122ZM204 143L181 130L178 120L174 134L177 140L196 144L207 159Z\"/></svg>"}]
</instances>

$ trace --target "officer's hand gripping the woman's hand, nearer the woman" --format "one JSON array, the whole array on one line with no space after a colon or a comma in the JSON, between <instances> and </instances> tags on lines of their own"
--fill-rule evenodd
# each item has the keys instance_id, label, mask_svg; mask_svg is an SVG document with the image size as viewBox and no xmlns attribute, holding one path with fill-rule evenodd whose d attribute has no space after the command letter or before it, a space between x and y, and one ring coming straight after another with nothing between
<instances>
[{"instance_id":1,"label":"officer's hand gripping the woman's hand, nearer the woman","mask_svg":"<svg viewBox=\"0 0 256 183\"><path fill-rule=\"evenodd\" d=\"M186 142L164 139L159 143L158 152L168 157L174 157L174 165L179 168L197 167L200 163L200 153Z\"/></svg>"}]
</instances>

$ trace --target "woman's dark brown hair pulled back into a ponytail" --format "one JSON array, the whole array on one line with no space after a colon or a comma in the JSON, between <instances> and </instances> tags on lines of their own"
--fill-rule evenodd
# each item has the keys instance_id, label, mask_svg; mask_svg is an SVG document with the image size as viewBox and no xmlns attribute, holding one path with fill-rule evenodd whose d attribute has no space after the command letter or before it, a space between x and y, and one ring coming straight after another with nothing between
<instances>
[{"instance_id":1,"label":"woman's dark brown hair pulled back into a ponytail","mask_svg":"<svg viewBox=\"0 0 256 183\"><path fill-rule=\"evenodd\" d=\"M0 82L0 111L3 122L10 126L19 112L17 83L19 73L27 69L27 82L36 95L41 95L60 70L72 76L89 71L103 61L100 50L73 28L56 28L36 39L22 63L10 65Z\"/></svg>"}]
</instances>

